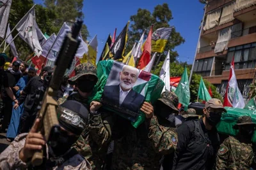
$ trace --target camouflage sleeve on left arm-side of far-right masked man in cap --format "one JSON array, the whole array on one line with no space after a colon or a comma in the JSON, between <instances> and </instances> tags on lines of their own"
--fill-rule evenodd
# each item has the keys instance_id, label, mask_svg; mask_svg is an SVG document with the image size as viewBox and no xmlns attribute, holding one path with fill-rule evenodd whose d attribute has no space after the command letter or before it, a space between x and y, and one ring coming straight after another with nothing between
<instances>
[{"instance_id":1,"label":"camouflage sleeve on left arm-side of far-right masked man in cap","mask_svg":"<svg viewBox=\"0 0 256 170\"><path fill-rule=\"evenodd\" d=\"M228 164L232 162L228 162L230 149L228 147L228 140L226 139L221 143L220 149L217 153L217 159L216 159L216 169L228 169Z\"/></svg>"}]
</instances>

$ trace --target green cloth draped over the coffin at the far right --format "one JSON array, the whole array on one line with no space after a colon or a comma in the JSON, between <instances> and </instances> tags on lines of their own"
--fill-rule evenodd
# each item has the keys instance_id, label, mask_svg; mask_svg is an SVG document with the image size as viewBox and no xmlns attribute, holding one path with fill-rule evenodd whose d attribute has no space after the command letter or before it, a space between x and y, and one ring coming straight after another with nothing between
<instances>
[{"instance_id":1,"label":"green cloth draped over the coffin at the far right","mask_svg":"<svg viewBox=\"0 0 256 170\"><path fill-rule=\"evenodd\" d=\"M227 113L223 113L220 123L216 126L218 132L221 134L236 136L238 130L234 129L233 127L236 125L238 118L241 116L250 116L252 117L252 121L256 123L256 111L230 107L225 107L225 109L227 110ZM256 143L255 131L252 137L252 142Z\"/></svg>"}]
</instances>

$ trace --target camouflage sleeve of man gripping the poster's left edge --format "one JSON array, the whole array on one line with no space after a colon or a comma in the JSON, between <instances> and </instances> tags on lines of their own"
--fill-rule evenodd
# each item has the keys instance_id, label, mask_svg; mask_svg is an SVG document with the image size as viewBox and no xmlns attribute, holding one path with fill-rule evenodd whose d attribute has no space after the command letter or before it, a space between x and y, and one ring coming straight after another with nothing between
<instances>
[{"instance_id":1,"label":"camouflage sleeve of man gripping the poster's left edge","mask_svg":"<svg viewBox=\"0 0 256 170\"><path fill-rule=\"evenodd\" d=\"M101 113L90 115L88 130L93 141L99 148L108 147L111 138L111 115Z\"/></svg>"}]
</instances>

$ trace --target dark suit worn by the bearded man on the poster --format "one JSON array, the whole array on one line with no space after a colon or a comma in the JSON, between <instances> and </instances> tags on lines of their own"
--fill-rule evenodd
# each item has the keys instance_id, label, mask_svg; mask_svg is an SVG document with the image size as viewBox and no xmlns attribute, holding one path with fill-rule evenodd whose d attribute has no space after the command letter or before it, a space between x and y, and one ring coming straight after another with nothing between
<instances>
[{"instance_id":1,"label":"dark suit worn by the bearded man on the poster","mask_svg":"<svg viewBox=\"0 0 256 170\"><path fill-rule=\"evenodd\" d=\"M120 85L110 85L105 86L102 99L108 103L115 104L119 106L119 96L120 96ZM131 111L138 112L140 110L140 106L144 101L144 96L138 94L133 89L125 97L123 103L120 107L127 108Z\"/></svg>"}]
</instances>

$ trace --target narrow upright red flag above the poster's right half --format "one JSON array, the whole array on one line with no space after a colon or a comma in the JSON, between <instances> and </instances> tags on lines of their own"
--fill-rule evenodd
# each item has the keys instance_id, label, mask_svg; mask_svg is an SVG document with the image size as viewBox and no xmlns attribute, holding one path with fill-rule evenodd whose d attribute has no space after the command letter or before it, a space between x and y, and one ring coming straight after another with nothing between
<instances>
[{"instance_id":1,"label":"narrow upright red flag above the poster's right half","mask_svg":"<svg viewBox=\"0 0 256 170\"><path fill-rule=\"evenodd\" d=\"M150 62L152 32L153 25L150 27L150 31L148 32L148 37L147 40L145 41L144 50L140 57L138 69L144 69L144 67L147 66L148 62Z\"/></svg>"}]
</instances>

